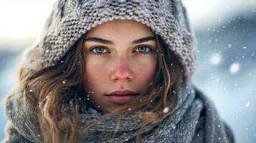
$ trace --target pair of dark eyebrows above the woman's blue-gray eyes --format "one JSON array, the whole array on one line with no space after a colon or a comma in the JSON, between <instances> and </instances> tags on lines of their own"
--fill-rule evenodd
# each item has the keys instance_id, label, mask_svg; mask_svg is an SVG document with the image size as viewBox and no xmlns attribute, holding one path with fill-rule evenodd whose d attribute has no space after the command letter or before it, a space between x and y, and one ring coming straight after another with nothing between
<instances>
[{"instance_id":1,"label":"pair of dark eyebrows above the woman's blue-gray eyes","mask_svg":"<svg viewBox=\"0 0 256 143\"><path fill-rule=\"evenodd\" d=\"M132 42L132 44L138 44L138 43L142 43L144 41L150 41L150 40L156 40L156 37L155 36L146 36L144 38L134 40ZM97 41L97 42L100 42L100 43L103 43L103 44L114 44L113 41L109 41L109 40L106 40L106 39L101 39L101 38L98 38L98 37L90 37L90 38L85 39L85 41Z\"/></svg>"}]
</instances>

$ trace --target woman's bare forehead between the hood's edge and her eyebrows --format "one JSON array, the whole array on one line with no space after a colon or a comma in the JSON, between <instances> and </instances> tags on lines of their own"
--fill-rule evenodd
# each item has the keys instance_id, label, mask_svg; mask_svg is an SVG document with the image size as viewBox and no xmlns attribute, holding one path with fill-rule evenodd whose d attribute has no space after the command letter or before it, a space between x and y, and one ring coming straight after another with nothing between
<instances>
[{"instance_id":1,"label":"woman's bare forehead between the hood's edge and her eyebrows","mask_svg":"<svg viewBox=\"0 0 256 143\"><path fill-rule=\"evenodd\" d=\"M125 38L141 38L142 36L153 36L154 33L150 27L142 24L141 22L134 20L113 20L107 21L100 24L90 31L87 31L87 36L101 36L102 38L115 38L123 37Z\"/></svg>"}]
</instances>

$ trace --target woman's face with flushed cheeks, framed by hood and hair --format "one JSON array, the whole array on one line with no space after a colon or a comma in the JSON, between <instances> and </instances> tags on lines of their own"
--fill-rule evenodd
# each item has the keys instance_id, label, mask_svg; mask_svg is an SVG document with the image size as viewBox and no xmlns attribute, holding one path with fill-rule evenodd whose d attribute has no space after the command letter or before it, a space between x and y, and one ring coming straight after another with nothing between
<instances>
[{"instance_id":1,"label":"woman's face with flushed cheeks, framed by hood and hair","mask_svg":"<svg viewBox=\"0 0 256 143\"><path fill-rule=\"evenodd\" d=\"M157 44L146 25L133 20L105 22L87 31L83 48L88 99L103 112L133 100L153 80Z\"/></svg>"}]
</instances>

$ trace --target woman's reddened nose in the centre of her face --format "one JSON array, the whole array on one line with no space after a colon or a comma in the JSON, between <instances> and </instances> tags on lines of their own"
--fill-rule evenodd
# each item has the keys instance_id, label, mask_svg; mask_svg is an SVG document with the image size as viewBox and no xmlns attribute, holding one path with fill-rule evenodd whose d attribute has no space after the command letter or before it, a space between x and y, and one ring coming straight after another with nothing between
<instances>
[{"instance_id":1,"label":"woman's reddened nose in the centre of her face","mask_svg":"<svg viewBox=\"0 0 256 143\"><path fill-rule=\"evenodd\" d=\"M111 75L113 81L133 79L133 73L129 67L128 60L124 57L118 58L115 64L115 71Z\"/></svg>"}]
</instances>

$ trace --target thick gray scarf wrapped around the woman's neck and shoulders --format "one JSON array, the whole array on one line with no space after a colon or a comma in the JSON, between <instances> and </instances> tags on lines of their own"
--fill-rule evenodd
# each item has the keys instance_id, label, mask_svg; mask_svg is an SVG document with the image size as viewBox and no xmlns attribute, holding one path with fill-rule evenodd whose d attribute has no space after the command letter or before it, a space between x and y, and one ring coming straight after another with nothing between
<instances>
[{"instance_id":1,"label":"thick gray scarf wrapped around the woman's neck and shoulders","mask_svg":"<svg viewBox=\"0 0 256 143\"><path fill-rule=\"evenodd\" d=\"M2 142L40 142L37 120L25 109L20 94L11 94L6 102L6 115L11 122L6 125ZM85 127L103 116L93 108L82 109L79 119L78 142L135 142L136 130L141 120L135 114L122 117L118 132L113 137L118 115L95 124L85 134ZM113 138L112 138L113 137ZM192 86L181 89L179 103L166 119L141 137L141 142L234 142L227 124L217 116L212 103Z\"/></svg>"}]
</instances>

